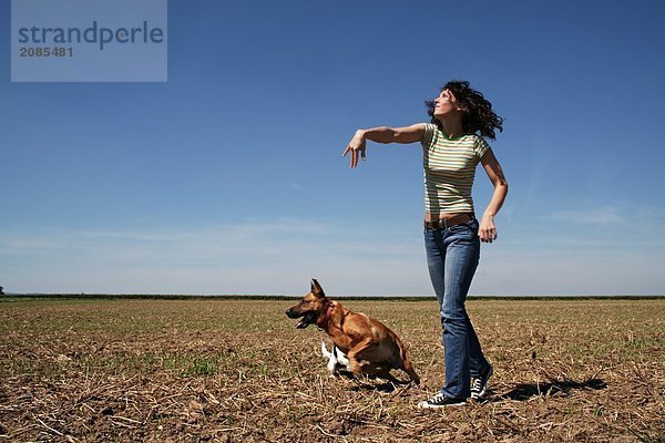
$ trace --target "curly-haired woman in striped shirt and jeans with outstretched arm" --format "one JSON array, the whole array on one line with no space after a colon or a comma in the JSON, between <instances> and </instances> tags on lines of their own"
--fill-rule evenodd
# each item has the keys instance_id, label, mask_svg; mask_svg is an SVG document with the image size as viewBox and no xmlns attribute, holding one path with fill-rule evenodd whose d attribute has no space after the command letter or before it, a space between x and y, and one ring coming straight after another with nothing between
<instances>
[{"instance_id":1,"label":"curly-haired woman in striped shirt and jeans with outstretched arm","mask_svg":"<svg viewBox=\"0 0 665 443\"><path fill-rule=\"evenodd\" d=\"M478 261L480 241L497 239L494 216L508 194L501 165L483 137L495 138L503 119L466 81L448 82L439 96L426 102L430 123L406 127L358 130L344 155L351 167L366 158L366 142L416 143L423 152L424 245L430 279L440 306L446 358L446 385L419 408L446 408L481 399L492 365L484 358L464 301ZM474 216L471 188L481 163L494 192L480 223Z\"/></svg>"}]
</instances>

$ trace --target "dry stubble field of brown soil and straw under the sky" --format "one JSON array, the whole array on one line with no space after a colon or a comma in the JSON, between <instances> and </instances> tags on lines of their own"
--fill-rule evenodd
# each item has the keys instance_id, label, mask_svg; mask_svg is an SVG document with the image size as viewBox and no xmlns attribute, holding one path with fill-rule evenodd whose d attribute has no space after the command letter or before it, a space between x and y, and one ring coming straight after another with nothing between
<instances>
[{"instance_id":1,"label":"dry stubble field of brown soil and straw under the sky","mask_svg":"<svg viewBox=\"0 0 665 443\"><path fill-rule=\"evenodd\" d=\"M0 299L0 442L665 442L663 299L469 301L494 378L446 411L436 302L344 303L420 387L331 378L294 301Z\"/></svg>"}]
</instances>

